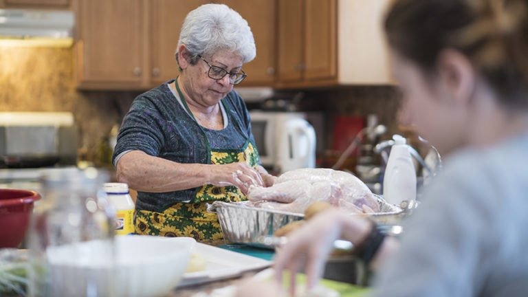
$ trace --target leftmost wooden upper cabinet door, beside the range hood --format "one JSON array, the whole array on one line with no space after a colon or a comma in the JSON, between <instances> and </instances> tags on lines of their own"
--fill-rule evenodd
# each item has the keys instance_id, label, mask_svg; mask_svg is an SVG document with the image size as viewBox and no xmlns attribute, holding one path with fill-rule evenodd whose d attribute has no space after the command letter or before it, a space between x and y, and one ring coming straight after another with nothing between
<instances>
[{"instance_id":1,"label":"leftmost wooden upper cabinet door, beside the range hood","mask_svg":"<svg viewBox=\"0 0 528 297\"><path fill-rule=\"evenodd\" d=\"M78 87L140 88L144 83L146 1L84 0L78 10ZM105 87L107 86L107 87Z\"/></svg>"}]
</instances>

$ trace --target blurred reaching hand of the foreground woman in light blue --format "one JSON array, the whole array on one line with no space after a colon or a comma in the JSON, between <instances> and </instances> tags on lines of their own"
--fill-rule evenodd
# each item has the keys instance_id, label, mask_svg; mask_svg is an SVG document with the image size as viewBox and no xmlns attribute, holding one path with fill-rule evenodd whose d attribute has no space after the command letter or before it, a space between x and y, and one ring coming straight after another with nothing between
<instances>
[{"instance_id":1,"label":"blurred reaching hand of the foreground woman in light blue","mask_svg":"<svg viewBox=\"0 0 528 297\"><path fill-rule=\"evenodd\" d=\"M287 236L287 244L278 249L274 261L276 281L282 283L283 270L289 270L290 291L294 294L295 275L305 264L307 285L309 289L313 288L322 276L333 241L344 235L346 239L358 243L370 228L369 221L351 217L337 209L320 212Z\"/></svg>"}]
</instances>

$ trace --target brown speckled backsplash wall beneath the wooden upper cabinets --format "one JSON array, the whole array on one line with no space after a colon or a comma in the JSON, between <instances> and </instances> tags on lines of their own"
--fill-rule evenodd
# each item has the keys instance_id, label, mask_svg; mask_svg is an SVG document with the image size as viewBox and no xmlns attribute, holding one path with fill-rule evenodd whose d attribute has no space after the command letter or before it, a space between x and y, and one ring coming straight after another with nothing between
<instances>
[{"instance_id":1,"label":"brown speckled backsplash wall beneath the wooden upper cabinets","mask_svg":"<svg viewBox=\"0 0 528 297\"><path fill-rule=\"evenodd\" d=\"M101 164L100 144L111 127L120 122L138 91L78 91L74 83L71 48L0 47L0 111L70 111L79 126L80 159ZM323 111L325 148L330 148L333 117L375 113L388 126L387 135L398 130L399 107L394 87L339 87L323 90L278 91L293 98L298 107Z\"/></svg>"}]
</instances>

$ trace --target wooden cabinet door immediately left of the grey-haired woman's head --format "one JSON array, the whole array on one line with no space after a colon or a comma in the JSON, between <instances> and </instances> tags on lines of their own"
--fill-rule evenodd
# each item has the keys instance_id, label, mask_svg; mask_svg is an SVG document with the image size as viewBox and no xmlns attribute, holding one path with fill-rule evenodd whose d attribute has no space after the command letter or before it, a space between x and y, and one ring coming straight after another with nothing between
<instances>
[{"instance_id":1,"label":"wooden cabinet door immediately left of the grey-haired woman's head","mask_svg":"<svg viewBox=\"0 0 528 297\"><path fill-rule=\"evenodd\" d=\"M188 12L206 0L149 0L151 2L150 75L153 87L179 75L175 58L181 25Z\"/></svg>"}]
</instances>

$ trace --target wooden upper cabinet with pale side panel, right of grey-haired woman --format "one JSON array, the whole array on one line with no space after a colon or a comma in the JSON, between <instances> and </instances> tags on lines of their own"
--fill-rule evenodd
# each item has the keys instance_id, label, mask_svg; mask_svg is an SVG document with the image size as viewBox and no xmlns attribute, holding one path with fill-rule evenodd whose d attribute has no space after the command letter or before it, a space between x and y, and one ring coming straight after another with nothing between
<instances>
[{"instance_id":1,"label":"wooden upper cabinet with pale side panel, right of grey-haired woman","mask_svg":"<svg viewBox=\"0 0 528 297\"><path fill-rule=\"evenodd\" d=\"M382 32L389 1L279 1L276 87L393 84Z\"/></svg>"}]
</instances>

